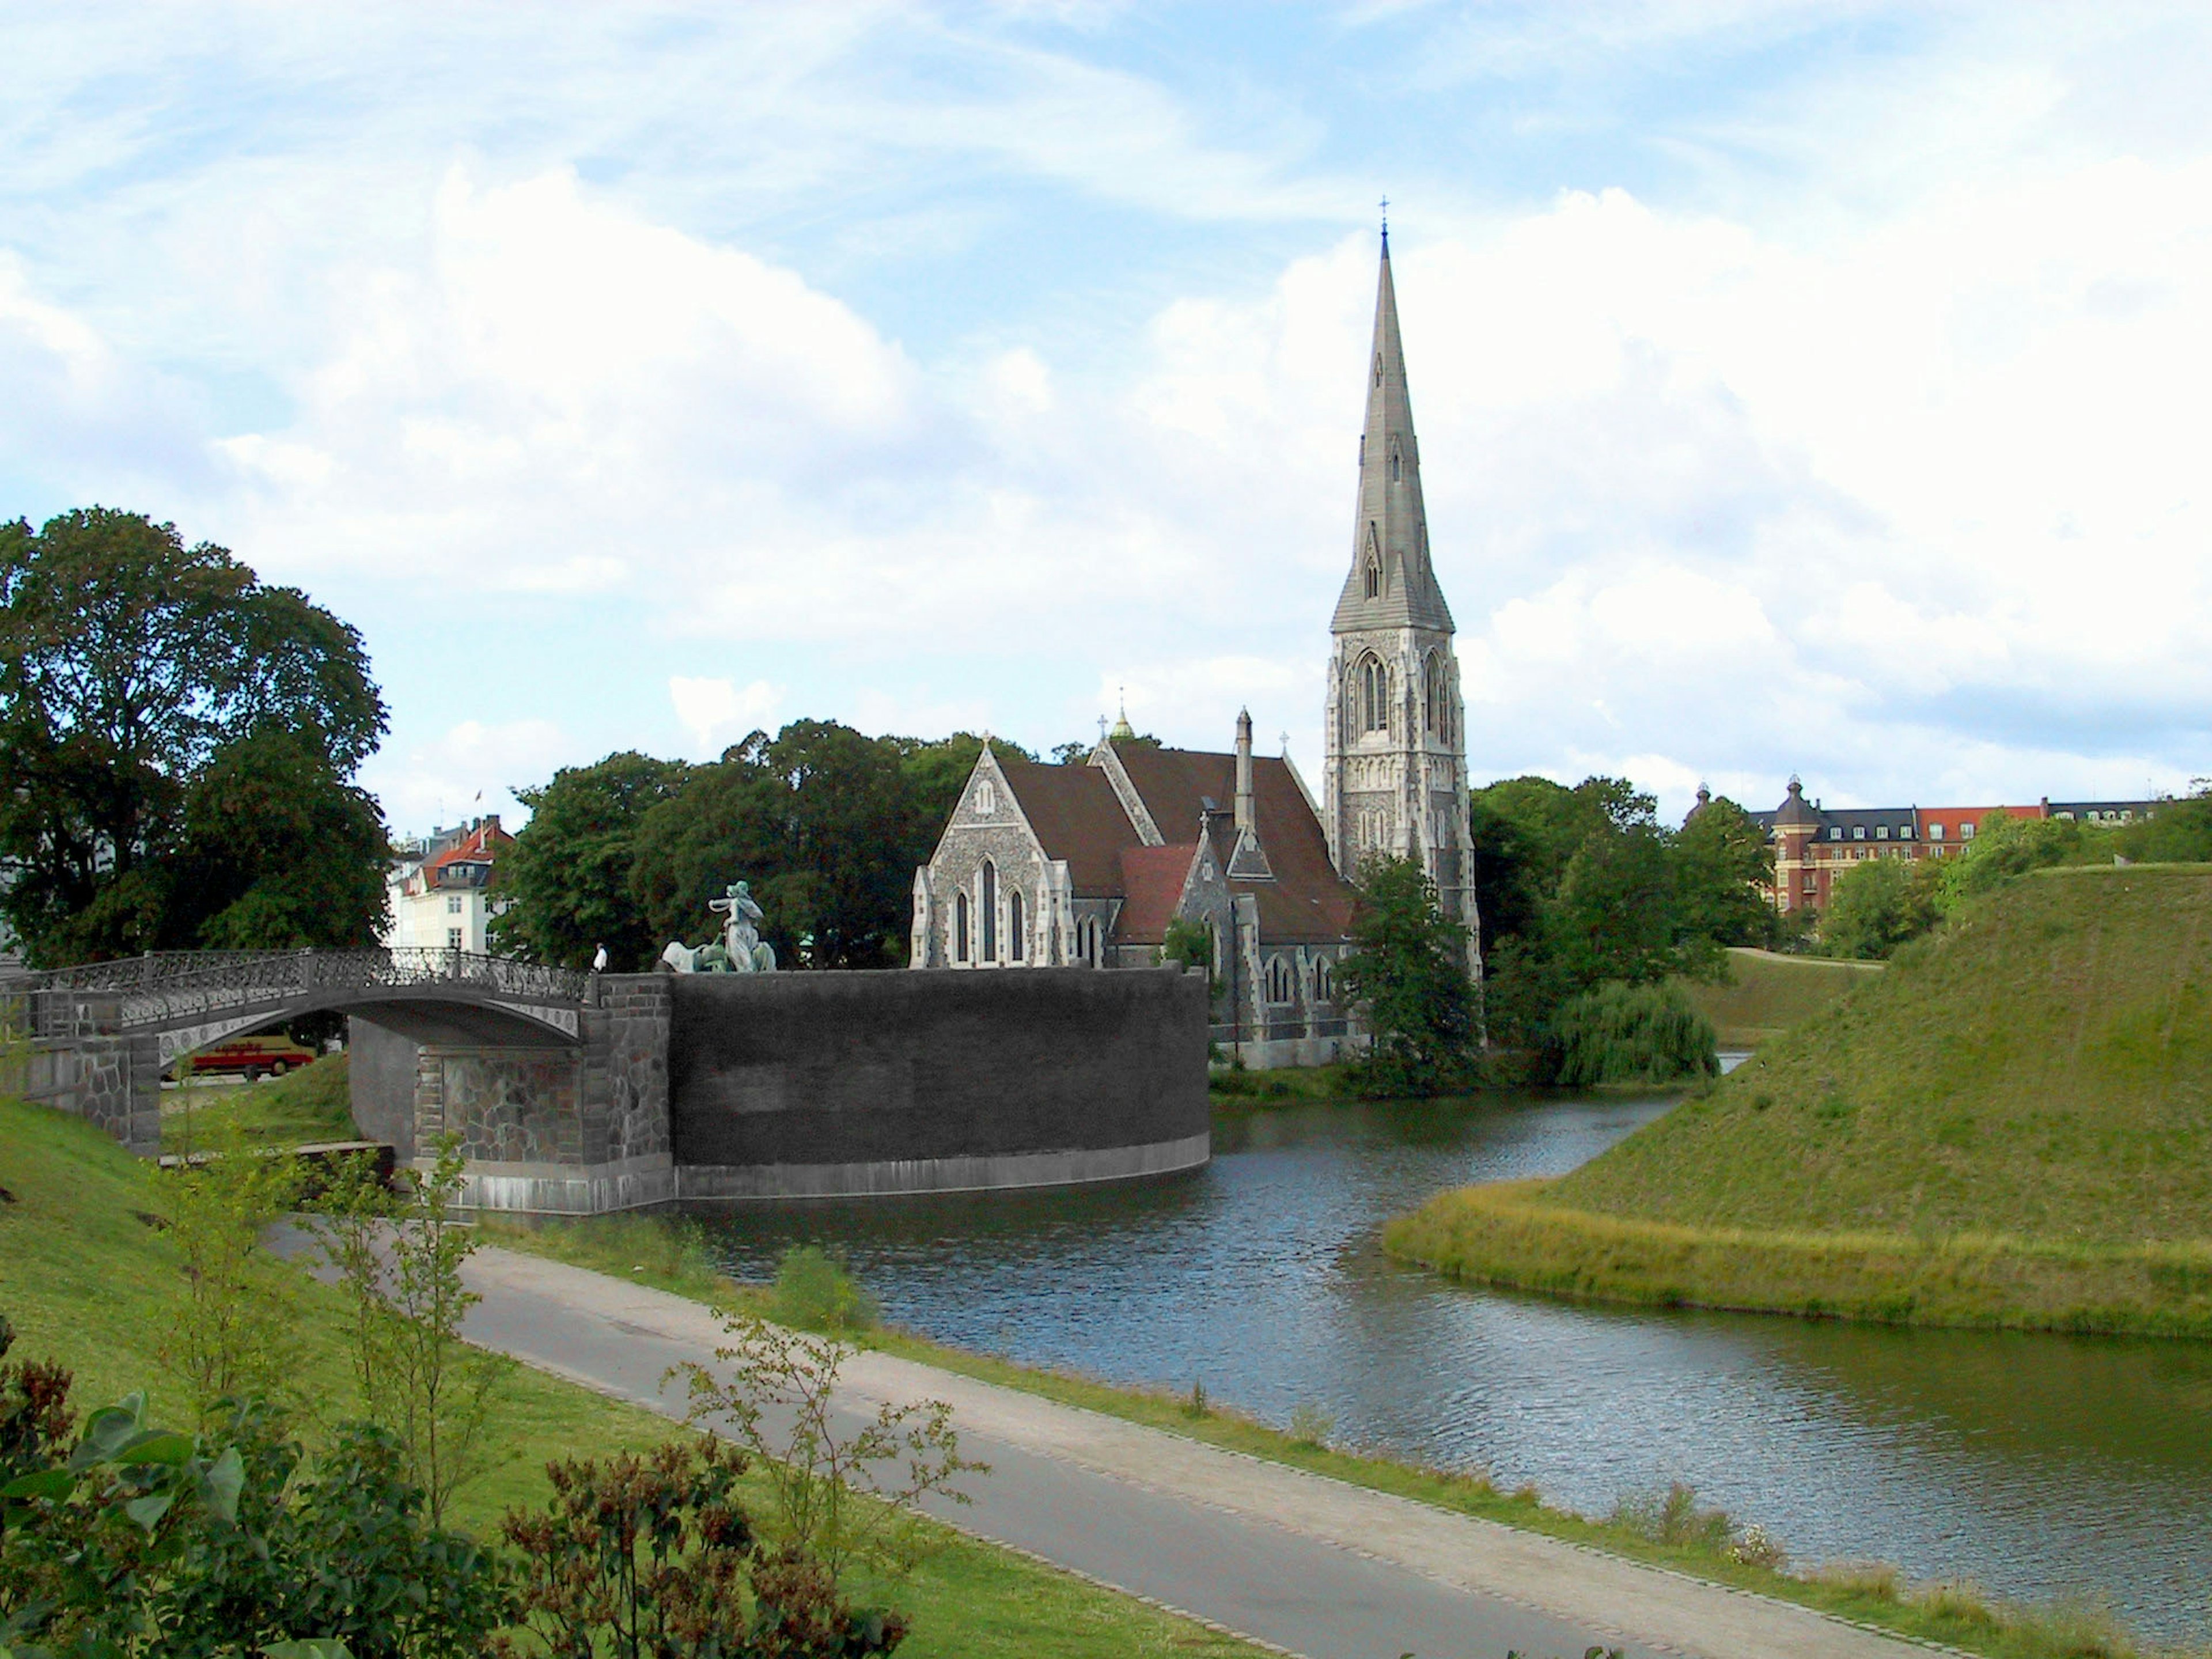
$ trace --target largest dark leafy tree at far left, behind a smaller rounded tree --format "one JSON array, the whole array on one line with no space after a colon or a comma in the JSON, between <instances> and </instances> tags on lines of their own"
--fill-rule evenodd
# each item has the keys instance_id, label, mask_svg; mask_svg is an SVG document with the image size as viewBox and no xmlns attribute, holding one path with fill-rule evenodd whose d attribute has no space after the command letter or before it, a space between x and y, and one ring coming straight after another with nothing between
<instances>
[{"instance_id":1,"label":"largest dark leafy tree at far left, behind a smaller rounded tree","mask_svg":"<svg viewBox=\"0 0 2212 1659\"><path fill-rule=\"evenodd\" d=\"M35 962L199 945L212 916L177 867L192 781L257 739L250 770L283 772L281 732L343 787L383 730L361 635L226 549L104 507L0 524L0 914ZM274 874L248 867L230 902Z\"/></svg>"}]
</instances>

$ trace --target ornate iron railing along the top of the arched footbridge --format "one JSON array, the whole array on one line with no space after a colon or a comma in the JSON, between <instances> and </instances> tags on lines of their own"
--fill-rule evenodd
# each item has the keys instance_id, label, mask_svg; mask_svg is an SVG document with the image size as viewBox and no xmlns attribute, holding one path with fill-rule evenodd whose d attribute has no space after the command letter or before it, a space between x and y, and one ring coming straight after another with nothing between
<instances>
[{"instance_id":1,"label":"ornate iron railing along the top of the arched footbridge","mask_svg":"<svg viewBox=\"0 0 2212 1659\"><path fill-rule=\"evenodd\" d=\"M591 975L573 969L515 962L431 947L369 951L157 951L119 962L38 973L22 989L119 998L119 1026L173 1024L226 1009L288 1002L310 991L365 991L372 987L469 987L515 1002L584 1002ZM55 1011L58 1013L58 1011ZM46 1020L40 1020L44 1026Z\"/></svg>"}]
</instances>

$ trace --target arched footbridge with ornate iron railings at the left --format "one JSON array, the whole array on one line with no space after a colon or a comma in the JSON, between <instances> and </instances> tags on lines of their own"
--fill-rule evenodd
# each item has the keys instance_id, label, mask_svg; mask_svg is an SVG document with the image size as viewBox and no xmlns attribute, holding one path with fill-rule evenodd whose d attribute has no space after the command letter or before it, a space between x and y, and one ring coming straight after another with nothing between
<instances>
[{"instance_id":1,"label":"arched footbridge with ornate iron railings at the left","mask_svg":"<svg viewBox=\"0 0 2212 1659\"><path fill-rule=\"evenodd\" d=\"M440 1051L582 1051L588 973L440 949L157 951L4 987L24 1095L135 1152L161 1144L161 1075L241 1031L349 1013Z\"/></svg>"}]
</instances>

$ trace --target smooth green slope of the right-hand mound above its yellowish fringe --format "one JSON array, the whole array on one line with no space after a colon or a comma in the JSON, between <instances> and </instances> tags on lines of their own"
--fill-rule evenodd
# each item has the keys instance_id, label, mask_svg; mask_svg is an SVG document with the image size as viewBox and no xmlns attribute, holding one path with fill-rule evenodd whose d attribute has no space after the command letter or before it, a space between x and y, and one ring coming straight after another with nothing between
<instances>
[{"instance_id":1,"label":"smooth green slope of the right-hand mound above its yellowish fringe","mask_svg":"<svg viewBox=\"0 0 2212 1659\"><path fill-rule=\"evenodd\" d=\"M1562 1179L1652 1221L2212 1234L2212 869L2022 880Z\"/></svg>"}]
</instances>

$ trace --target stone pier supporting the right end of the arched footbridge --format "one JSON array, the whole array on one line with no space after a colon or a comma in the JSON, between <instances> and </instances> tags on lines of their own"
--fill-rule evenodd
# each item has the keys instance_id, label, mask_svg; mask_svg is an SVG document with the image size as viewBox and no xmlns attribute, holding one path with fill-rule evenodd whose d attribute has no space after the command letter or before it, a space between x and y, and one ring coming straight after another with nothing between
<instances>
[{"instance_id":1,"label":"stone pier supporting the right end of the arched footbridge","mask_svg":"<svg viewBox=\"0 0 2212 1659\"><path fill-rule=\"evenodd\" d=\"M659 973L602 978L575 1044L354 1013L354 1121L418 1168L440 1135L458 1135L462 1201L478 1210L597 1214L672 1199L668 987Z\"/></svg>"}]
</instances>

